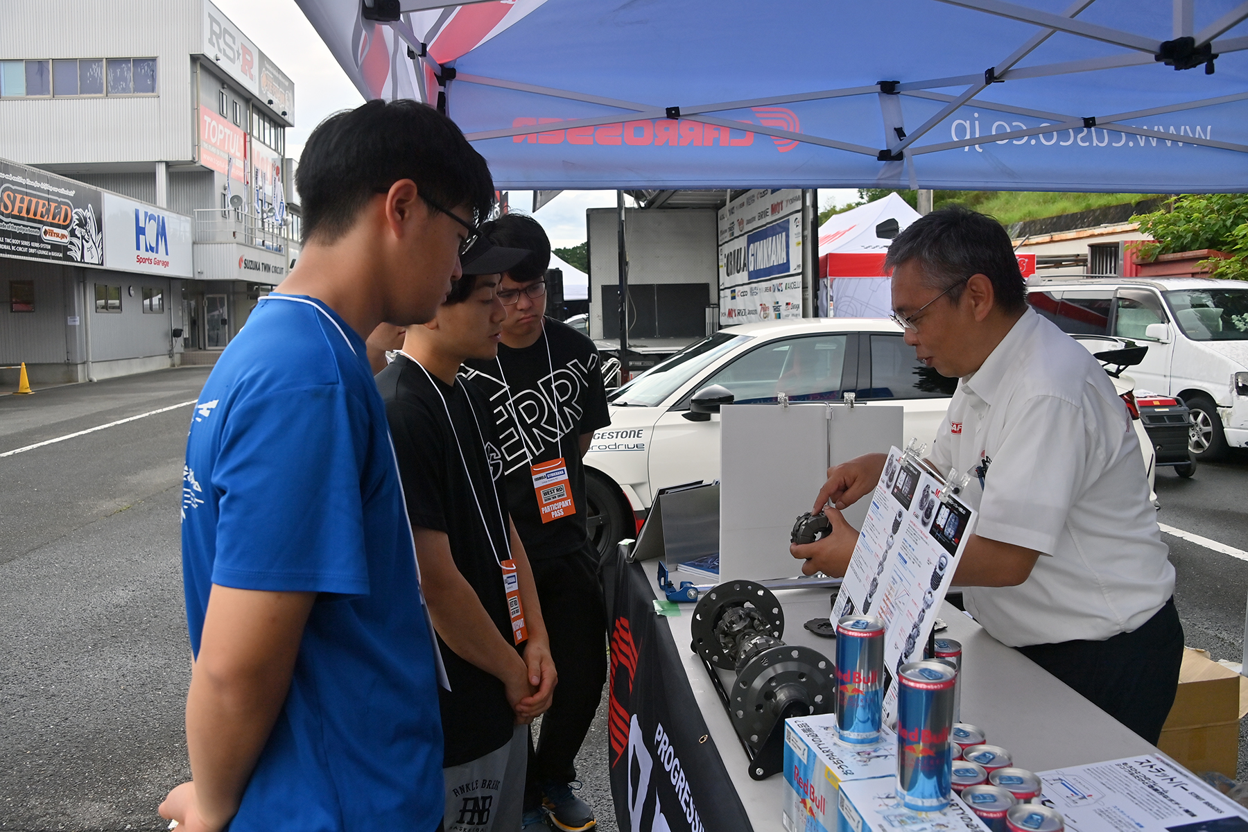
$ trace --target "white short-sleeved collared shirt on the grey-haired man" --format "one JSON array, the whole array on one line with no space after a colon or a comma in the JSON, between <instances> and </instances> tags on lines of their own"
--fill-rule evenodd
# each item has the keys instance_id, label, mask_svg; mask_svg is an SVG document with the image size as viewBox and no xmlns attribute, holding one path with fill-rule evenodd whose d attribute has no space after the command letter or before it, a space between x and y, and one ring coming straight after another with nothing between
<instances>
[{"instance_id":1,"label":"white short-sleeved collared shirt on the grey-haired man","mask_svg":"<svg viewBox=\"0 0 1248 832\"><path fill-rule=\"evenodd\" d=\"M966 590L997 640L1102 641L1174 593L1122 399L1088 351L1031 308L961 380L930 458L971 475L963 495L978 503L980 536L1045 555L1020 586Z\"/></svg>"}]
</instances>

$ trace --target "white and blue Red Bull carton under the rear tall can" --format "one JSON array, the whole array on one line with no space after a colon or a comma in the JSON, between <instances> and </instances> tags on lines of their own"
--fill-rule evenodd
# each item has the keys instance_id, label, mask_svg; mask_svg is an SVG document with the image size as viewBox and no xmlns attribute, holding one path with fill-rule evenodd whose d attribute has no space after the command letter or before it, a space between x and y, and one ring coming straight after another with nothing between
<instances>
[{"instance_id":1,"label":"white and blue Red Bull carton under the rear tall can","mask_svg":"<svg viewBox=\"0 0 1248 832\"><path fill-rule=\"evenodd\" d=\"M836 738L836 715L785 720L784 826L789 832L835 832L837 788L842 782L897 773L896 736L851 746Z\"/></svg>"}]
</instances>

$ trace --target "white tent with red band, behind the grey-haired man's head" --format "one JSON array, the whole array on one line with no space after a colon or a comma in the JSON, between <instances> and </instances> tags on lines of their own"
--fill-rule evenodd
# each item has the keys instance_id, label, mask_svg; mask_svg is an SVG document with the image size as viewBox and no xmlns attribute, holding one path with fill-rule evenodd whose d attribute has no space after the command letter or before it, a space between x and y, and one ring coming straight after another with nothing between
<instances>
[{"instance_id":1,"label":"white tent with red band, behind the grey-haired man's head","mask_svg":"<svg viewBox=\"0 0 1248 832\"><path fill-rule=\"evenodd\" d=\"M876 226L889 220L905 230L919 212L896 193L836 213L819 227L819 314L837 318L879 318L892 302L884 257L889 238Z\"/></svg>"}]
</instances>

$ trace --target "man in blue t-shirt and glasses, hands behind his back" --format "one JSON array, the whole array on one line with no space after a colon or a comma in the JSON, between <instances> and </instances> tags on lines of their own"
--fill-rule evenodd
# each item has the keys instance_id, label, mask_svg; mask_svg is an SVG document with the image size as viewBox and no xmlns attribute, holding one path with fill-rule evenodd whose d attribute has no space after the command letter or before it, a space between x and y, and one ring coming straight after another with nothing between
<instances>
[{"instance_id":1,"label":"man in blue t-shirt and glasses, hands behind his back","mask_svg":"<svg viewBox=\"0 0 1248 832\"><path fill-rule=\"evenodd\" d=\"M303 151L303 251L221 356L182 473L187 832L443 813L441 671L364 337L431 319L493 202L444 116L369 101Z\"/></svg>"}]
</instances>

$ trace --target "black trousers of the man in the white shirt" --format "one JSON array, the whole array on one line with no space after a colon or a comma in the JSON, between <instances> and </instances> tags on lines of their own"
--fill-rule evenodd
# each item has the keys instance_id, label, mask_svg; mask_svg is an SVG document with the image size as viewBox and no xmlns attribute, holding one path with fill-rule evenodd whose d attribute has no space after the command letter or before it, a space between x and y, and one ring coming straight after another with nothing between
<instances>
[{"instance_id":1,"label":"black trousers of the man in the white shirt","mask_svg":"<svg viewBox=\"0 0 1248 832\"><path fill-rule=\"evenodd\" d=\"M1157 745L1183 662L1183 625L1173 597L1132 632L1104 641L1037 644L1018 651Z\"/></svg>"}]
</instances>

